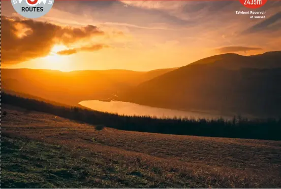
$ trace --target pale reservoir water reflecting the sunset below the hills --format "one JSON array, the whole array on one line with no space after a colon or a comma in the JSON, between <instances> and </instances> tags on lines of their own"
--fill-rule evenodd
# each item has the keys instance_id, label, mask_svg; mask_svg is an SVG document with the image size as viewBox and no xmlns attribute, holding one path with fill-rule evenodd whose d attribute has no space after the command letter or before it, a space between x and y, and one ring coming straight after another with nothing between
<instances>
[{"instance_id":1,"label":"pale reservoir water reflecting the sunset below the hills","mask_svg":"<svg viewBox=\"0 0 281 189\"><path fill-rule=\"evenodd\" d=\"M158 107L150 107L131 102L120 102L120 101L99 101L99 100L86 100L79 102L80 105L104 112L116 113L118 115L128 116L155 116L158 118L168 117L187 117L187 118L225 118L231 119L232 117L208 114L205 112L194 112L194 111L181 111L176 109L166 109Z\"/></svg>"}]
</instances>

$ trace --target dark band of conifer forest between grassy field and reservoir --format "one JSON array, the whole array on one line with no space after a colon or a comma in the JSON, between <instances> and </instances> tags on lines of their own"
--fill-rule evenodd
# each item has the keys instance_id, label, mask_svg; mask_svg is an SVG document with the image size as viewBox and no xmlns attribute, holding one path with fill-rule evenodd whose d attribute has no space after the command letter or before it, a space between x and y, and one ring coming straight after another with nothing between
<instances>
[{"instance_id":1,"label":"dark band of conifer forest between grassy field and reservoir","mask_svg":"<svg viewBox=\"0 0 281 189\"><path fill-rule=\"evenodd\" d=\"M58 106L6 93L1 94L1 102L20 106L28 111L42 111L84 123L122 130L213 137L281 139L279 135L281 133L281 119L247 120L234 117L233 120L206 120L204 118L195 120L119 116L79 107Z\"/></svg>"}]
</instances>

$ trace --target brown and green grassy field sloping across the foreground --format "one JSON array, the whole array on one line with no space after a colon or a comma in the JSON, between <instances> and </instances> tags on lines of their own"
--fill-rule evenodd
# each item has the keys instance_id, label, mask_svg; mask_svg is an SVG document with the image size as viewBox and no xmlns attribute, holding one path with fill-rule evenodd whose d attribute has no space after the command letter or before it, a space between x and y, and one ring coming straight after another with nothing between
<instances>
[{"instance_id":1,"label":"brown and green grassy field sloping across the foreground","mask_svg":"<svg viewBox=\"0 0 281 189\"><path fill-rule=\"evenodd\" d=\"M1 187L281 187L281 141L97 128L2 104Z\"/></svg>"}]
</instances>

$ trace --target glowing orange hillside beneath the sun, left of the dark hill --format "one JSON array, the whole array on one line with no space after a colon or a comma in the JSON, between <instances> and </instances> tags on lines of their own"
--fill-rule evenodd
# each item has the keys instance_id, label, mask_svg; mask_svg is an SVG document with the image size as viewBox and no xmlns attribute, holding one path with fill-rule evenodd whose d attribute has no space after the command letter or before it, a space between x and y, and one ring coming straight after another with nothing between
<instances>
[{"instance_id":1,"label":"glowing orange hillside beneath the sun, left of the dark hill","mask_svg":"<svg viewBox=\"0 0 281 189\"><path fill-rule=\"evenodd\" d=\"M119 69L71 72L2 69L1 87L6 91L77 105L81 100L106 99L173 69L175 68L148 72Z\"/></svg>"}]
</instances>

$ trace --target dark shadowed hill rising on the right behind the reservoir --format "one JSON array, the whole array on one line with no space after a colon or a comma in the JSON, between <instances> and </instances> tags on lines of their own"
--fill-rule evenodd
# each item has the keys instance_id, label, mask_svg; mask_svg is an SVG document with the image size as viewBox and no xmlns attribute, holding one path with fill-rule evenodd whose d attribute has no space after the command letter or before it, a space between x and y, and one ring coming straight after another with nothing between
<instances>
[{"instance_id":1,"label":"dark shadowed hill rising on the right behind the reservoir","mask_svg":"<svg viewBox=\"0 0 281 189\"><path fill-rule=\"evenodd\" d=\"M281 51L216 55L170 71L116 100L185 110L281 116Z\"/></svg>"}]
</instances>

